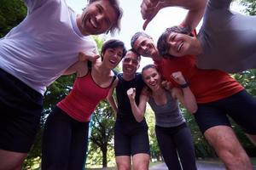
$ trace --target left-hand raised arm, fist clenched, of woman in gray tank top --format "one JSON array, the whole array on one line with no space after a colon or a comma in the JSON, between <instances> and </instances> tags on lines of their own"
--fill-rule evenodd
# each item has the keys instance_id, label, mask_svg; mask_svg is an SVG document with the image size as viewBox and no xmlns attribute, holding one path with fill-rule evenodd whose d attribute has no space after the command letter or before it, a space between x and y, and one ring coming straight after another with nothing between
<instances>
[{"instance_id":1,"label":"left-hand raised arm, fist clenched, of woman in gray tank top","mask_svg":"<svg viewBox=\"0 0 256 170\"><path fill-rule=\"evenodd\" d=\"M146 88L143 88L143 91L145 92ZM137 103L135 101L135 95L136 95L136 89L130 88L127 90L127 95L130 100L131 104L131 111L133 113L133 116L135 117L137 122L142 122L144 119L144 114L146 111L146 106L148 102L148 95L146 93L142 92L140 95L140 103L137 106Z\"/></svg>"}]
</instances>

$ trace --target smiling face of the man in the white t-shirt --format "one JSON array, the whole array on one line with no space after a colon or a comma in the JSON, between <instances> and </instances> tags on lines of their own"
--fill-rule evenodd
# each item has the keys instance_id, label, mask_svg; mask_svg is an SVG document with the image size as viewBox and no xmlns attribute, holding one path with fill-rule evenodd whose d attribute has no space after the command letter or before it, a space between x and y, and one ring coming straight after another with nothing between
<instances>
[{"instance_id":1,"label":"smiling face of the man in the white t-shirt","mask_svg":"<svg viewBox=\"0 0 256 170\"><path fill-rule=\"evenodd\" d=\"M84 36L97 35L109 31L116 23L118 15L108 0L90 3L78 18L79 30Z\"/></svg>"}]
</instances>

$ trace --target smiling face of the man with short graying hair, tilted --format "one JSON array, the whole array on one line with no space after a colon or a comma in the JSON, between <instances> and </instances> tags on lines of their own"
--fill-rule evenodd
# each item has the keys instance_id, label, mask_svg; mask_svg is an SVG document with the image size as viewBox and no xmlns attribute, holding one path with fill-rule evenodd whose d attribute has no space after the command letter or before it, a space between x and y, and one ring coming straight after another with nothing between
<instances>
[{"instance_id":1,"label":"smiling face of the man with short graying hair, tilted","mask_svg":"<svg viewBox=\"0 0 256 170\"><path fill-rule=\"evenodd\" d=\"M153 39L149 37L138 37L134 42L133 48L138 54L141 54L144 57L154 58L155 56L158 56L158 51L154 45Z\"/></svg>"}]
</instances>

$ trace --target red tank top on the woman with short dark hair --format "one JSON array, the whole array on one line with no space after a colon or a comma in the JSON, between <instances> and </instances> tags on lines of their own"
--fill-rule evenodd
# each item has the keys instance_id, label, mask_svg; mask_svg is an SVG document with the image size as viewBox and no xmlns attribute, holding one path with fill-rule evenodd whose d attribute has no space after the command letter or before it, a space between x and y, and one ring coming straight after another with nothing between
<instances>
[{"instance_id":1,"label":"red tank top on the woman with short dark hair","mask_svg":"<svg viewBox=\"0 0 256 170\"><path fill-rule=\"evenodd\" d=\"M114 80L115 77L113 77ZM94 82L89 71L86 76L76 78L70 94L62 99L57 106L73 119L79 122L89 122L90 116L100 100L107 97L112 83L108 88L101 88Z\"/></svg>"}]
</instances>

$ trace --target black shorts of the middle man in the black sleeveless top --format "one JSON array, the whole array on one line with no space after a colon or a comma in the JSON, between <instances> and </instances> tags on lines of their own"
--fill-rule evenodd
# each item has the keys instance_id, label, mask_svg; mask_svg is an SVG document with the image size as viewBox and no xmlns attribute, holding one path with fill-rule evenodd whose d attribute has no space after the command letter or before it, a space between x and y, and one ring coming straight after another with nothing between
<instances>
[{"instance_id":1,"label":"black shorts of the middle man in the black sleeveless top","mask_svg":"<svg viewBox=\"0 0 256 170\"><path fill-rule=\"evenodd\" d=\"M134 156L139 153L150 154L148 126L143 122L121 122L114 125L115 156Z\"/></svg>"}]
</instances>

